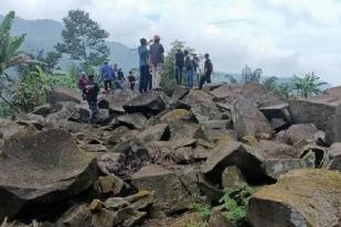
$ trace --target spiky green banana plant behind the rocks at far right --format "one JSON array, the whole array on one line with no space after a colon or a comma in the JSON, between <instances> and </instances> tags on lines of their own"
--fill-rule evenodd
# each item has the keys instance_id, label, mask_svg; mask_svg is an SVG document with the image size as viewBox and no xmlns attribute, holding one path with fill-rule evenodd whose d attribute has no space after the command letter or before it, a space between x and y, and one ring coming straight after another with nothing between
<instances>
[{"instance_id":1,"label":"spiky green banana plant behind the rocks at far right","mask_svg":"<svg viewBox=\"0 0 341 227\"><path fill-rule=\"evenodd\" d=\"M301 97L310 98L312 95L322 94L322 90L319 88L321 85L326 85L324 82L319 82L319 77L315 73L306 74L305 77L300 78L294 75L291 80L292 88Z\"/></svg>"}]
</instances>

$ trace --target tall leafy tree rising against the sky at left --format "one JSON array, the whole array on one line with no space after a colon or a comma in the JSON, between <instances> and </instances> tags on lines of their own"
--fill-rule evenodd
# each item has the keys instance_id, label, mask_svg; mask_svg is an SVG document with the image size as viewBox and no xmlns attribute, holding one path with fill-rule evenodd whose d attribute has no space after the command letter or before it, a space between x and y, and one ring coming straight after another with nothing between
<instances>
[{"instance_id":1,"label":"tall leafy tree rising against the sky at left","mask_svg":"<svg viewBox=\"0 0 341 227\"><path fill-rule=\"evenodd\" d=\"M84 69L98 66L109 55L105 40L108 32L100 29L99 24L89 18L87 12L71 10L63 19L63 43L57 43L55 48L61 54L67 54L72 60L79 61Z\"/></svg>"}]
</instances>

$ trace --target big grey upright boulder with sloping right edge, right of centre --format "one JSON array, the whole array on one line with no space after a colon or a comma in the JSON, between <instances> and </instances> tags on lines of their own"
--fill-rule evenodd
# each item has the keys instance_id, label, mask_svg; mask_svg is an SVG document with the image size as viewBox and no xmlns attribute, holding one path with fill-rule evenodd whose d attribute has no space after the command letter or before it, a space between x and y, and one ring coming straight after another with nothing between
<instances>
[{"instance_id":1,"label":"big grey upright boulder with sloping right edge, right of centre","mask_svg":"<svg viewBox=\"0 0 341 227\"><path fill-rule=\"evenodd\" d=\"M245 136L269 137L273 133L273 128L265 116L242 96L233 102L231 115L238 138Z\"/></svg>"}]
</instances>

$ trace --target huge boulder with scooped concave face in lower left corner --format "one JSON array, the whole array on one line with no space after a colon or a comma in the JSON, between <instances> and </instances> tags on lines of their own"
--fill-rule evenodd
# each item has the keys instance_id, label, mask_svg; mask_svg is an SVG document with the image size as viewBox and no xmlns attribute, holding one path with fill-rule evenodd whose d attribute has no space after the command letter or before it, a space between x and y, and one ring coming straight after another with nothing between
<instances>
[{"instance_id":1,"label":"huge boulder with scooped concave face in lower left corner","mask_svg":"<svg viewBox=\"0 0 341 227\"><path fill-rule=\"evenodd\" d=\"M93 155L81 151L63 130L18 136L0 150L0 219L73 197L96 177Z\"/></svg>"}]
</instances>

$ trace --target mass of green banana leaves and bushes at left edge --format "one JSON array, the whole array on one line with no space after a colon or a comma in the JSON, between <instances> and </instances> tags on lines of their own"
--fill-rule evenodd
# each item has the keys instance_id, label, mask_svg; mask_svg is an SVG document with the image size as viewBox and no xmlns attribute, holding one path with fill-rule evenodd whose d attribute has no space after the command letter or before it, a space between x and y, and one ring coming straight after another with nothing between
<instances>
[{"instance_id":1,"label":"mass of green banana leaves and bushes at left edge","mask_svg":"<svg viewBox=\"0 0 341 227\"><path fill-rule=\"evenodd\" d=\"M45 104L47 93L54 85L76 87L75 71L68 76L57 77L51 74L58 58L57 53L47 53L44 57L42 53L41 56L30 56L19 52L24 34L19 36L10 34L14 17L13 11L9 12L0 24L0 116L2 117L31 111L34 107ZM7 69L15 66L18 75L11 78Z\"/></svg>"}]
</instances>

